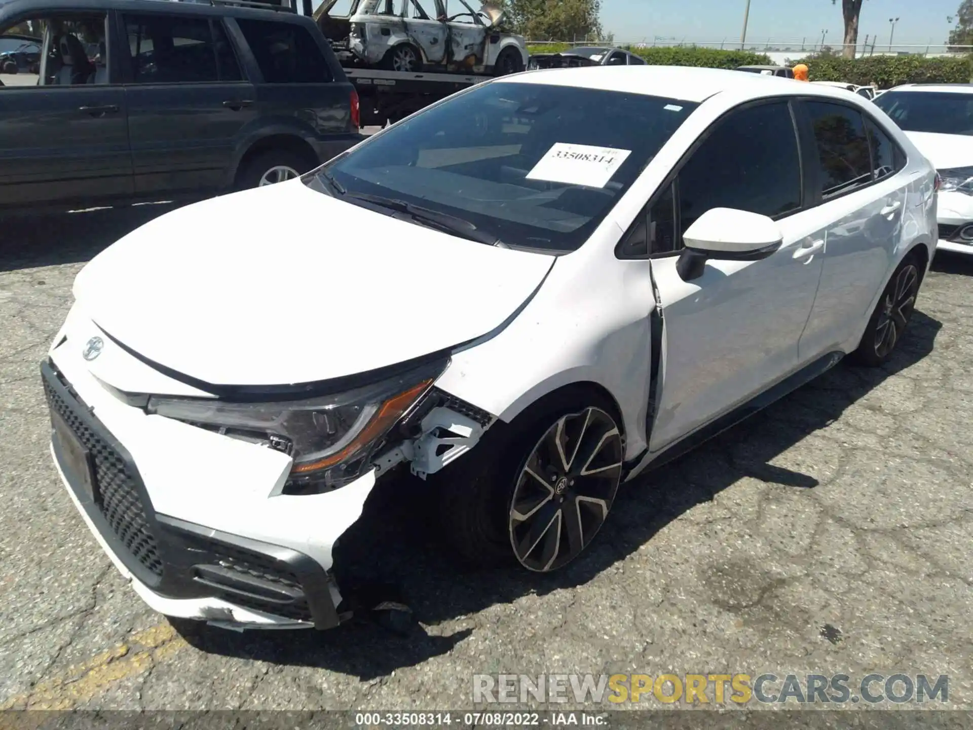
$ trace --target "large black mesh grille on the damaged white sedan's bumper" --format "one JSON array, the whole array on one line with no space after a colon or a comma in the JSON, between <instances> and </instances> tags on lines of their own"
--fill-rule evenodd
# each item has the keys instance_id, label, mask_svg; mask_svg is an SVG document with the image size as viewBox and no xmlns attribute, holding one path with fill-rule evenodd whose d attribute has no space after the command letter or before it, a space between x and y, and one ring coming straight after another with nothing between
<instances>
[{"instance_id":1,"label":"large black mesh grille on the damaged white sedan's bumper","mask_svg":"<svg viewBox=\"0 0 973 730\"><path fill-rule=\"evenodd\" d=\"M162 577L159 544L149 529L145 509L125 459L77 415L75 409L82 408L78 402L66 401L47 381L44 382L44 391L51 410L68 424L90 452L100 495L100 499L95 501L108 525L135 560Z\"/></svg>"}]
</instances>

